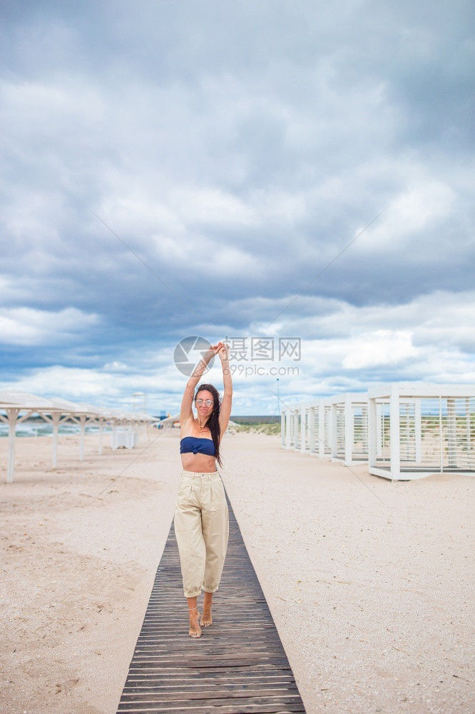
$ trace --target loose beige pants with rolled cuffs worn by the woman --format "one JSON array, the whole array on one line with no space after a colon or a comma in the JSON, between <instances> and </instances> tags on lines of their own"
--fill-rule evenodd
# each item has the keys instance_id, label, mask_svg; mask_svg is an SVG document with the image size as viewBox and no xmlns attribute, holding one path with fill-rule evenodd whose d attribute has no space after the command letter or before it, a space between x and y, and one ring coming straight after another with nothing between
<instances>
[{"instance_id":1,"label":"loose beige pants with rolled cuffs worn by the woman","mask_svg":"<svg viewBox=\"0 0 475 714\"><path fill-rule=\"evenodd\" d=\"M185 598L218 590L228 548L228 504L218 471L183 471L175 509Z\"/></svg>"}]
</instances>

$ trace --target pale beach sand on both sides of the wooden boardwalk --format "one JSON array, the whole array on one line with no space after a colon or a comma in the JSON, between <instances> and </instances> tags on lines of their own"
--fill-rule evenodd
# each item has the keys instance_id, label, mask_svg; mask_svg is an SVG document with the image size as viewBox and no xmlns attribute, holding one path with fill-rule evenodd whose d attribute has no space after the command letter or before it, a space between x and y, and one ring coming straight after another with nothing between
<instances>
[{"instance_id":1,"label":"pale beach sand on both sides of the wooden boardwalk","mask_svg":"<svg viewBox=\"0 0 475 714\"><path fill-rule=\"evenodd\" d=\"M2 713L115 714L180 471L178 433L150 436L102 456L87 436L83 462L60 437L55 471L50 439L17 440L0 484ZM475 710L474 479L391 483L262 434L226 435L223 453L307 713Z\"/></svg>"}]
</instances>

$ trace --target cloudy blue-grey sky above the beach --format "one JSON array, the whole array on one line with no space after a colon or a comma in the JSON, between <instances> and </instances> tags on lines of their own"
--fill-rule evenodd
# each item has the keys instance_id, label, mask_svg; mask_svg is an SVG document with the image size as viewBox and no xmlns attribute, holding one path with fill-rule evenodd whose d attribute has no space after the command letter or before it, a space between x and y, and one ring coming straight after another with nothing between
<instances>
[{"instance_id":1,"label":"cloudy blue-grey sky above the beach","mask_svg":"<svg viewBox=\"0 0 475 714\"><path fill-rule=\"evenodd\" d=\"M175 411L188 336L235 414L474 381L469 0L1 14L0 388Z\"/></svg>"}]
</instances>

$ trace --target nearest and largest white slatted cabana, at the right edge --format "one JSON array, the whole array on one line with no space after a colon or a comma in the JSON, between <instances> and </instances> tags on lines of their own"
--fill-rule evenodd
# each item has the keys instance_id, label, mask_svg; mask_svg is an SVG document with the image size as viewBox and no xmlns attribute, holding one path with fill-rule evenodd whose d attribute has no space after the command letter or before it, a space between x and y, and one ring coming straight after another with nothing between
<instances>
[{"instance_id":1,"label":"nearest and largest white slatted cabana, at the right edge","mask_svg":"<svg viewBox=\"0 0 475 714\"><path fill-rule=\"evenodd\" d=\"M368 391L369 473L408 481L475 474L475 386L394 383Z\"/></svg>"}]
</instances>

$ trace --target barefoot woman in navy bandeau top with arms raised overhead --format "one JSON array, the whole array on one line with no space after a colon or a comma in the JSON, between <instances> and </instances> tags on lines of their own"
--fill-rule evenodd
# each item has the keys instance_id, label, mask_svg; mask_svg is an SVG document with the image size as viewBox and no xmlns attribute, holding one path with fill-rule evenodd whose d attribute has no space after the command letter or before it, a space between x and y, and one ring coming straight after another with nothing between
<instances>
[{"instance_id":1,"label":"barefoot woman in navy bandeau top with arms raised overhead","mask_svg":"<svg viewBox=\"0 0 475 714\"><path fill-rule=\"evenodd\" d=\"M208 363L219 355L224 396L220 403L212 384L201 384ZM197 416L193 415L193 398ZM183 394L180 413L180 454L183 465L175 510L175 535L180 551L183 590L188 600L190 637L200 637L200 625L213 623L211 605L218 590L228 547L228 506L216 462L221 466L220 443L228 427L233 398L229 348L223 342L205 353ZM200 618L196 598L205 591ZM198 622L199 620L199 622Z\"/></svg>"}]
</instances>

